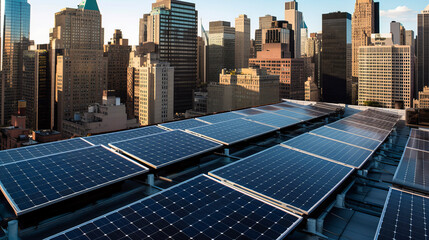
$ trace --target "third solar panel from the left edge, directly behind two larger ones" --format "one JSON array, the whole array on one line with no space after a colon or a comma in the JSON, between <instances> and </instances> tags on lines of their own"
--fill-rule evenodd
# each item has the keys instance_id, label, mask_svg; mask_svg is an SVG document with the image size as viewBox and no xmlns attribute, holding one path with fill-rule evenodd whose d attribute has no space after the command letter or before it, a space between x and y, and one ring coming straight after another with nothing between
<instances>
[{"instance_id":1,"label":"third solar panel from the left edge, directly behind two larger ones","mask_svg":"<svg viewBox=\"0 0 429 240\"><path fill-rule=\"evenodd\" d=\"M276 128L249 120L235 119L228 122L189 129L188 131L219 141L225 145L232 145L276 130Z\"/></svg>"}]
</instances>

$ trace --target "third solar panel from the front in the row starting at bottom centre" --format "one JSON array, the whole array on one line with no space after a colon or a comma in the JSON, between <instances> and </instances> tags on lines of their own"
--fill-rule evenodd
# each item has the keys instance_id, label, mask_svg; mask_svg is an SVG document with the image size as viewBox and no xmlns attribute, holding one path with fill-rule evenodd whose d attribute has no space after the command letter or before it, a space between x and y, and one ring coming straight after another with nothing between
<instances>
[{"instance_id":1,"label":"third solar panel from the front in the row starting at bottom centre","mask_svg":"<svg viewBox=\"0 0 429 240\"><path fill-rule=\"evenodd\" d=\"M372 155L372 151L311 134L303 134L282 144L355 168L361 168Z\"/></svg>"}]
</instances>

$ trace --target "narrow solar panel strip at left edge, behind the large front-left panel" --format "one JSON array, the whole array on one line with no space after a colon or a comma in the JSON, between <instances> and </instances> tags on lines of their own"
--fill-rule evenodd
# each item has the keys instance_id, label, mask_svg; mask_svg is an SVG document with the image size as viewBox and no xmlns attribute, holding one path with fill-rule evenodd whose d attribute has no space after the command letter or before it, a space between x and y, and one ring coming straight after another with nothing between
<instances>
[{"instance_id":1,"label":"narrow solar panel strip at left edge, behind the large front-left panel","mask_svg":"<svg viewBox=\"0 0 429 240\"><path fill-rule=\"evenodd\" d=\"M81 138L0 151L0 165L90 147Z\"/></svg>"}]
</instances>

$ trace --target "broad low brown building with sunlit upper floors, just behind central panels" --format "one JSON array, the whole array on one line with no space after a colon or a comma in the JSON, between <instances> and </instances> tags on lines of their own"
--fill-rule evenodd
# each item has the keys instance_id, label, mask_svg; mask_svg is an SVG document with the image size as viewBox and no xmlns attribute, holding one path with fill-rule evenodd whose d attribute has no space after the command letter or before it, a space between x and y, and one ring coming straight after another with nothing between
<instances>
[{"instance_id":1,"label":"broad low brown building with sunlit upper floors, just behind central panels","mask_svg":"<svg viewBox=\"0 0 429 240\"><path fill-rule=\"evenodd\" d=\"M224 112L279 101L279 76L266 70L243 68L222 70L219 82L207 87L207 111Z\"/></svg>"}]
</instances>

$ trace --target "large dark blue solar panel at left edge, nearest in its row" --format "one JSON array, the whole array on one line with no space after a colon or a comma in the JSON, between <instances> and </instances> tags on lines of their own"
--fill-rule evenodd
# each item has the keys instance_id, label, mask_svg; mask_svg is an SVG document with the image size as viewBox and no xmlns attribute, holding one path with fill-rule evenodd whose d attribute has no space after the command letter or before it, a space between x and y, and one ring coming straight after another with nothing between
<instances>
[{"instance_id":1,"label":"large dark blue solar panel at left edge, nearest in its row","mask_svg":"<svg viewBox=\"0 0 429 240\"><path fill-rule=\"evenodd\" d=\"M0 187L17 215L110 185L148 169L102 146L0 166Z\"/></svg>"}]
</instances>

